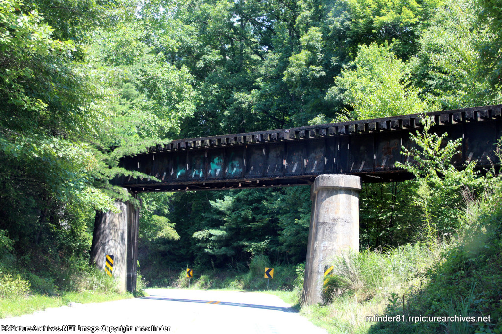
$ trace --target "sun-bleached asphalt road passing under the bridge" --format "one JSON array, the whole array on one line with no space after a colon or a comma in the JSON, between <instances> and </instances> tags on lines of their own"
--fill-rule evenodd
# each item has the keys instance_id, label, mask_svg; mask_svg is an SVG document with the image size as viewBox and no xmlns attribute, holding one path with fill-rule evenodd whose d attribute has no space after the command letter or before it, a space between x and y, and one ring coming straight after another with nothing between
<instances>
[{"instance_id":1,"label":"sun-bleached asphalt road passing under the bridge","mask_svg":"<svg viewBox=\"0 0 502 334\"><path fill-rule=\"evenodd\" d=\"M35 314L0 319L0 332L7 332L9 329L2 327L3 325L75 325L75 331L81 326L80 332L88 333L93 330L98 333L127 330L218 334L326 334L325 330L300 316L279 297L266 293L187 289L147 289L147 293L149 297L145 298L73 304L71 307L49 308ZM131 327L117 326L132 326L132 330ZM143 330L137 326L143 327ZM154 330L152 326L159 326L160 330ZM19 329L26 332L27 328ZM44 329L44 332L55 332L47 330L47 327Z\"/></svg>"}]
</instances>

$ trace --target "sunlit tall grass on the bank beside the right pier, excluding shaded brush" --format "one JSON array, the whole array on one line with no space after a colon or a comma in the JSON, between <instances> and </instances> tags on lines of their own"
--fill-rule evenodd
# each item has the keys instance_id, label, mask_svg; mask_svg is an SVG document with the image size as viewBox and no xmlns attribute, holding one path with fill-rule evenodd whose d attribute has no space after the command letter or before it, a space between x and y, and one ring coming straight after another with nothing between
<instances>
[{"instance_id":1,"label":"sunlit tall grass on the bank beside the right pier, excluding shaded brush","mask_svg":"<svg viewBox=\"0 0 502 334\"><path fill-rule=\"evenodd\" d=\"M332 259L332 274L325 277L324 305L302 305L301 313L330 333L367 333L373 323L366 316L403 309L442 247L415 243L343 252Z\"/></svg>"}]
</instances>

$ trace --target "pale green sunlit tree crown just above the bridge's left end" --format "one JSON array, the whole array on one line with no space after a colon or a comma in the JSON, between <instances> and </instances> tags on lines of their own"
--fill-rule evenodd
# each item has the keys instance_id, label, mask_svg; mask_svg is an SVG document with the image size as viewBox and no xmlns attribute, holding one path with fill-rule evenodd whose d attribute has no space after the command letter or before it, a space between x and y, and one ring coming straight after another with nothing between
<instances>
[{"instance_id":1,"label":"pale green sunlit tree crown just above the bridge's left end","mask_svg":"<svg viewBox=\"0 0 502 334\"><path fill-rule=\"evenodd\" d=\"M98 30L92 56L109 90L115 145L131 139L176 137L194 111L192 76L177 69L148 45L148 24L140 19ZM108 136L112 137L112 136ZM118 138L121 138L120 140Z\"/></svg>"}]
</instances>

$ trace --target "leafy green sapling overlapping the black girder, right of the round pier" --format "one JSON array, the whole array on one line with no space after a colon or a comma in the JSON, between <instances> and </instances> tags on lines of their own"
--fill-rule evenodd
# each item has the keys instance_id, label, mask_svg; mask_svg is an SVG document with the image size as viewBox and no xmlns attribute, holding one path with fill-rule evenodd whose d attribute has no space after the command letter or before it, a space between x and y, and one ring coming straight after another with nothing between
<instances>
[{"instance_id":1,"label":"leafy green sapling overlapping the black girder, right of the round pier","mask_svg":"<svg viewBox=\"0 0 502 334\"><path fill-rule=\"evenodd\" d=\"M433 125L430 118L424 117L422 122L422 133L411 134L416 147L403 147L408 161L396 162L396 166L416 176L414 202L422 209L423 227L430 244L436 244L438 238L452 234L458 227L461 190L476 191L481 184L476 180L475 161L461 170L452 164L454 156L460 152L461 139L447 141L447 133L438 136L430 132Z\"/></svg>"}]
</instances>

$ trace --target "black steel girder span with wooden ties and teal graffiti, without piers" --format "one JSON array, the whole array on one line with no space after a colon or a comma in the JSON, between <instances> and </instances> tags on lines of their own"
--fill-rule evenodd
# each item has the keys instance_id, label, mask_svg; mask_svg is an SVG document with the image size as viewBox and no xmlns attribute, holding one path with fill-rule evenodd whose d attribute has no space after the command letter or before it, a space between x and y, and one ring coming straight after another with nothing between
<instances>
[{"instance_id":1,"label":"black steel girder span with wooden ties and teal graffiti, without piers","mask_svg":"<svg viewBox=\"0 0 502 334\"><path fill-rule=\"evenodd\" d=\"M432 131L463 138L454 163L495 161L502 137L500 107L482 106L429 113ZM223 136L174 140L124 157L120 166L159 179L120 177L115 184L133 191L184 191L311 184L319 174L360 175L364 182L413 176L394 166L404 162L401 146L421 128L419 115L304 126ZM490 162L491 161L491 162Z\"/></svg>"}]
</instances>

